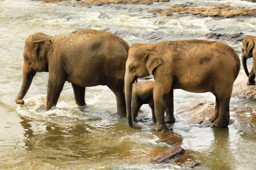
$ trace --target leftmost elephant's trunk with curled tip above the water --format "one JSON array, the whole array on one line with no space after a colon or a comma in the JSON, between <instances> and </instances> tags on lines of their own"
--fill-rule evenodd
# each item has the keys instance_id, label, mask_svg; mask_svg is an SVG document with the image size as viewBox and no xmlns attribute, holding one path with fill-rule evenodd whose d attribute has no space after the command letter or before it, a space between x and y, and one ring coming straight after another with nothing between
<instances>
[{"instance_id":1,"label":"leftmost elephant's trunk with curled tip above the water","mask_svg":"<svg viewBox=\"0 0 256 170\"><path fill-rule=\"evenodd\" d=\"M33 77L35 76L35 73L36 72L32 68L29 68L29 65L27 65L27 63L25 63L24 61L22 86L20 89L20 93L18 94L15 100L17 104L19 105L24 104L24 101L22 99L26 95L27 91L29 90Z\"/></svg>"}]
</instances>

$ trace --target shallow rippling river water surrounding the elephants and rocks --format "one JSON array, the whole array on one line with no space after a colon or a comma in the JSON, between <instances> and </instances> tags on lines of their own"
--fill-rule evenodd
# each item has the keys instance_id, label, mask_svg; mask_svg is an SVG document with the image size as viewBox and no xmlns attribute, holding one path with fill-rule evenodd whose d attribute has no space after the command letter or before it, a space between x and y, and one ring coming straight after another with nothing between
<instances>
[{"instance_id":1,"label":"shallow rippling river water surrounding the elephants and rocks","mask_svg":"<svg viewBox=\"0 0 256 170\"><path fill-rule=\"evenodd\" d=\"M256 117L234 115L228 128L200 127L175 114L170 127L180 140L167 144L151 131L151 109L144 105L135 123L115 114L114 94L106 86L86 88L87 107L78 107L71 84L66 83L57 108L45 111L48 73L37 73L25 96L25 105L15 98L22 83L23 49L35 32L57 35L93 28L119 35L130 45L163 40L206 39L214 32L255 34L255 17L232 19L147 13L177 3L197 6L227 4L256 8L240 0L174 0L153 5L74 6L75 1L42 3L31 0L0 0L0 169L186 169L172 164L152 164L151 159L173 144L180 144L201 163L197 169L255 169ZM241 42L224 41L241 56ZM250 60L249 64L252 61ZM175 90L175 111L181 105L215 102L210 93ZM230 105L254 106L255 101L232 98Z\"/></svg>"}]
</instances>

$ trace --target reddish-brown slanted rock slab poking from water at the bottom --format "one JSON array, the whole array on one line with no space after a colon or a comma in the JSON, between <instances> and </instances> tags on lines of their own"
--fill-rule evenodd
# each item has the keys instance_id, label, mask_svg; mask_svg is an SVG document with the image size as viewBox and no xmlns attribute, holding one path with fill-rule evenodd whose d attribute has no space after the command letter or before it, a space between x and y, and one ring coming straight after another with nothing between
<instances>
[{"instance_id":1,"label":"reddish-brown slanted rock slab poking from water at the bottom","mask_svg":"<svg viewBox=\"0 0 256 170\"><path fill-rule=\"evenodd\" d=\"M182 154L184 152L185 150L182 147L180 147L180 145L175 145L171 147L169 150L166 150L164 153L161 153L158 156L156 156L154 159L152 159L152 161L157 163L164 162L176 156L177 154Z\"/></svg>"}]
</instances>

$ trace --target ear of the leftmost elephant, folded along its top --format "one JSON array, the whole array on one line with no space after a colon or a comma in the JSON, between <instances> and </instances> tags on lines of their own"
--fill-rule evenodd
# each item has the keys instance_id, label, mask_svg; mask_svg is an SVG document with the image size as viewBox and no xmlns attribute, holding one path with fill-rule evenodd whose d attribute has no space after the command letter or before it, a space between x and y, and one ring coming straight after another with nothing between
<instances>
[{"instance_id":1,"label":"ear of the leftmost elephant, folded along its top","mask_svg":"<svg viewBox=\"0 0 256 170\"><path fill-rule=\"evenodd\" d=\"M38 40L33 42L35 45L35 54L39 60L43 61L45 57L49 57L53 48L51 45L51 40Z\"/></svg>"}]
</instances>

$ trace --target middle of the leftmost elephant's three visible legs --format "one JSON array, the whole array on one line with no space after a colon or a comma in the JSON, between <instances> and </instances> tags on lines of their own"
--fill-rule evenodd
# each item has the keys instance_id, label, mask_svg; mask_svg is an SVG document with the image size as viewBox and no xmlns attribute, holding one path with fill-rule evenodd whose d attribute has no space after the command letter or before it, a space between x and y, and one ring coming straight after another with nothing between
<instances>
[{"instance_id":1,"label":"middle of the leftmost elephant's three visible legs","mask_svg":"<svg viewBox=\"0 0 256 170\"><path fill-rule=\"evenodd\" d=\"M79 85L75 85L72 83L74 95L75 95L75 100L76 104L79 106L84 106L86 105L84 101L84 95L85 95L85 87L81 87Z\"/></svg>"}]
</instances>

